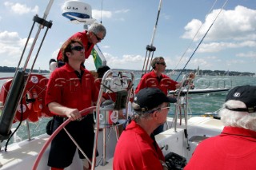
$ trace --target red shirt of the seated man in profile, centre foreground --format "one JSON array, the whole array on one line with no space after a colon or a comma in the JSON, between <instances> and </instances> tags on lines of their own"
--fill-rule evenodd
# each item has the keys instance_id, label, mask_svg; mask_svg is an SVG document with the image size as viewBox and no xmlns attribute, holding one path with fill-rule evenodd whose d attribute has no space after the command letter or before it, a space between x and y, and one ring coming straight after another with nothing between
<instances>
[{"instance_id":1,"label":"red shirt of the seated man in profile, centre foreground","mask_svg":"<svg viewBox=\"0 0 256 170\"><path fill-rule=\"evenodd\" d=\"M114 170L162 170L159 160L164 160L162 151L154 140L134 121L126 127L114 152Z\"/></svg>"}]
</instances>

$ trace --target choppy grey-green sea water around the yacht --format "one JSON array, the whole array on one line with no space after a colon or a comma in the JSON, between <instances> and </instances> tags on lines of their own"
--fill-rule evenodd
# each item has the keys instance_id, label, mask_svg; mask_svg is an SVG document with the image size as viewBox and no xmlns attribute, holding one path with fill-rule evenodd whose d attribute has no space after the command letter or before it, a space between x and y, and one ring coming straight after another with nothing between
<instances>
[{"instance_id":1,"label":"choppy grey-green sea water around the yacht","mask_svg":"<svg viewBox=\"0 0 256 170\"><path fill-rule=\"evenodd\" d=\"M0 73L0 77L12 77L14 73ZM171 77L176 80L176 77ZM181 81L182 77L178 79ZM140 80L140 74L135 74L134 89L137 87ZM6 80L0 80L0 86ZM256 85L256 77L221 77L221 76L202 76L195 77L194 85L198 89L204 88L232 88L238 85ZM202 94L189 94L188 106L189 113L192 113L192 116L205 114L205 113L214 113L222 107L222 104L225 102L227 92L222 93L202 93ZM174 114L174 105L171 105L171 109L168 117L173 117ZM9 144L13 143L14 140L25 140L28 139L28 129L30 129L30 138L33 139L34 136L38 136L46 132L46 124L50 120L49 117L42 117L38 122L31 123L28 121L23 121L20 127L18 128L14 137L10 139ZM12 132L18 127L19 122L15 123L12 126ZM2 147L6 140L2 143Z\"/></svg>"}]
</instances>

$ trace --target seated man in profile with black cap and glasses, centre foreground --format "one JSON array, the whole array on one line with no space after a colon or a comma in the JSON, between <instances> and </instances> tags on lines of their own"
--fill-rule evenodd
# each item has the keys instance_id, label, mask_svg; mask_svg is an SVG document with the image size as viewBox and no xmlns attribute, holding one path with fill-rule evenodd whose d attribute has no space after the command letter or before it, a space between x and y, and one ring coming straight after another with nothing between
<instances>
[{"instance_id":1,"label":"seated man in profile with black cap and glasses, centre foreground","mask_svg":"<svg viewBox=\"0 0 256 170\"><path fill-rule=\"evenodd\" d=\"M145 88L134 97L135 114L118 140L114 152L114 170L168 169L152 132L166 122L170 102L161 89Z\"/></svg>"}]
</instances>

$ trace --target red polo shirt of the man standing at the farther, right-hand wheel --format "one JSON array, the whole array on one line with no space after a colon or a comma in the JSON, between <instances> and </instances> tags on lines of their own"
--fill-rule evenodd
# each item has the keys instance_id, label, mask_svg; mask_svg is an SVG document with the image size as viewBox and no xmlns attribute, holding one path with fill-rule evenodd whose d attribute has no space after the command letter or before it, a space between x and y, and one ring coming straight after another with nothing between
<instances>
[{"instance_id":1,"label":"red polo shirt of the man standing at the farther, right-hand wheel","mask_svg":"<svg viewBox=\"0 0 256 170\"><path fill-rule=\"evenodd\" d=\"M139 90L144 89L146 87L154 87L161 89L163 93L167 95L168 90L176 89L178 82L173 81L170 77L166 76L165 74L161 74L161 77L158 78L154 70L150 73L144 74L142 79L139 81L138 86L135 90L135 93L138 93Z\"/></svg>"}]
</instances>

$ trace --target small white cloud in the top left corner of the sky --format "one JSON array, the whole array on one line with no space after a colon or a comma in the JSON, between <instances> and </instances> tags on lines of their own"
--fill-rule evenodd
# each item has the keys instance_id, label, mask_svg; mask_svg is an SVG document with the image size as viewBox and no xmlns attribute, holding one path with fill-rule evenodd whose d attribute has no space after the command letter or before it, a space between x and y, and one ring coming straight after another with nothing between
<instances>
[{"instance_id":1,"label":"small white cloud in the top left corner of the sky","mask_svg":"<svg viewBox=\"0 0 256 170\"><path fill-rule=\"evenodd\" d=\"M38 13L38 6L34 6L34 8L30 8L25 4L12 3L12 2L4 2L4 5L10 8L10 10L14 12L14 14L28 14L28 13L37 14Z\"/></svg>"}]
</instances>

